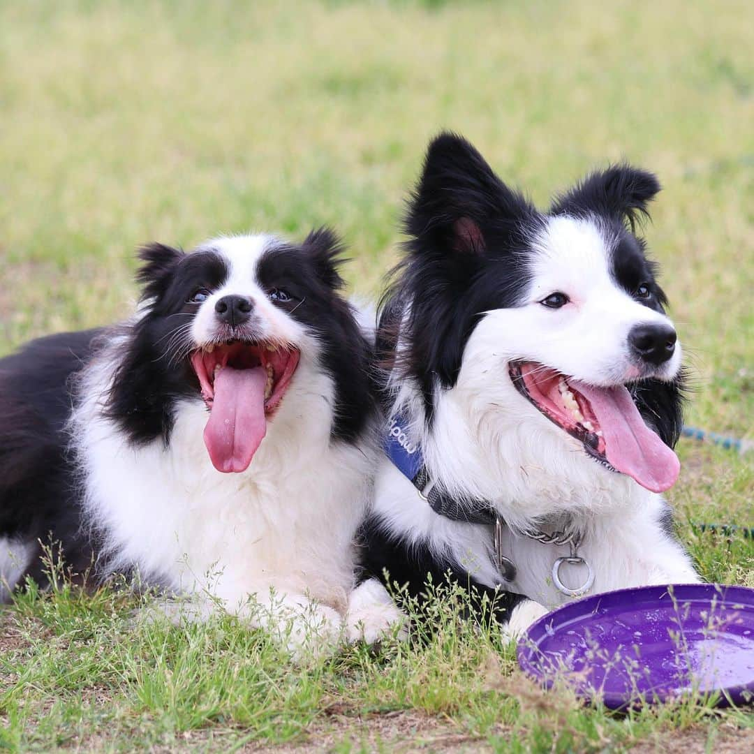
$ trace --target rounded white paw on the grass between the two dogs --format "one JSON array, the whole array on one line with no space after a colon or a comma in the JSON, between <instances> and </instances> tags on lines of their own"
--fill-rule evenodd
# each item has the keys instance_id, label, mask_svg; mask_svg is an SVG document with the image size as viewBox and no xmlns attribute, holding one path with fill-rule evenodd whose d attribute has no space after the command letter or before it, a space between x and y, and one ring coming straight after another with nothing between
<instances>
[{"instance_id":1,"label":"rounded white paw on the grass between the two dogs","mask_svg":"<svg viewBox=\"0 0 754 754\"><path fill-rule=\"evenodd\" d=\"M346 633L349 642L374 644L388 636L408 638L406 615L376 579L359 584L348 599Z\"/></svg>"}]
</instances>

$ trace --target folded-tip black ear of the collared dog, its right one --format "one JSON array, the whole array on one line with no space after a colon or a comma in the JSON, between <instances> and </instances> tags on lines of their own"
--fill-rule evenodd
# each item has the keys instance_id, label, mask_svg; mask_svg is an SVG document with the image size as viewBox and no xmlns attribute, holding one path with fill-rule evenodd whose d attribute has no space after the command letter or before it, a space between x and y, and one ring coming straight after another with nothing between
<instances>
[{"instance_id":1,"label":"folded-tip black ear of the collared dog, its right one","mask_svg":"<svg viewBox=\"0 0 754 754\"><path fill-rule=\"evenodd\" d=\"M647 205L660 191L654 173L627 164L613 165L587 176L569 192L556 198L555 215L596 213L628 222L633 230L642 216L648 217Z\"/></svg>"}]
</instances>

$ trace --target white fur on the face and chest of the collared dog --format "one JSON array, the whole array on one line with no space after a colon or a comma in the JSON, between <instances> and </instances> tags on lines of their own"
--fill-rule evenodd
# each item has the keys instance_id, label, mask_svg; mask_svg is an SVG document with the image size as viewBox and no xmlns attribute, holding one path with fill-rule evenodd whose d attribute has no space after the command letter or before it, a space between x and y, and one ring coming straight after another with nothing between
<instances>
[{"instance_id":1,"label":"white fur on the face and chest of the collared dog","mask_svg":"<svg viewBox=\"0 0 754 754\"><path fill-rule=\"evenodd\" d=\"M410 440L421 446L431 477L459 498L489 501L507 524L503 552L517 575L503 588L547 608L569 599L551 576L553 562L568 555L569 547L523 536L543 526L583 532L579 555L594 570L591 593L698 581L690 559L662 526L661 496L589 458L581 443L548 421L508 376L513 360L544 363L598 386L639 376L627 351L629 329L670 320L634 301L611 278L614 243L596 221L549 219L534 239L526 299L518 307L487 312L477 324L456 385L436 391L431 431L416 385L393 377L393 411L413 418ZM553 291L566 293L571 302L557 310L542 306ZM400 356L406 343L399 339L397 348ZM653 376L672 379L680 363L678 345ZM428 542L438 559L449 555L482 584L501 583L489 527L438 516L388 459L379 466L374 508L388 531ZM581 566L563 566L561 575L568 587L585 577ZM513 613L507 630L520 633L541 609L523 603Z\"/></svg>"}]
</instances>

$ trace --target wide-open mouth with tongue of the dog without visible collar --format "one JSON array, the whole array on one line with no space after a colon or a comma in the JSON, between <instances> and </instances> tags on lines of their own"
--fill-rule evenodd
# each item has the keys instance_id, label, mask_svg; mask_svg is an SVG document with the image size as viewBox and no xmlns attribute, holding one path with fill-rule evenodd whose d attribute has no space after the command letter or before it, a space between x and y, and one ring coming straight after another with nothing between
<instances>
[{"instance_id":1,"label":"wide-open mouth with tongue of the dog without visible collar","mask_svg":"<svg viewBox=\"0 0 754 754\"><path fill-rule=\"evenodd\" d=\"M204 444L214 467L247 470L299 365L299 351L233 340L194 351L191 363L210 409Z\"/></svg>"}]
</instances>

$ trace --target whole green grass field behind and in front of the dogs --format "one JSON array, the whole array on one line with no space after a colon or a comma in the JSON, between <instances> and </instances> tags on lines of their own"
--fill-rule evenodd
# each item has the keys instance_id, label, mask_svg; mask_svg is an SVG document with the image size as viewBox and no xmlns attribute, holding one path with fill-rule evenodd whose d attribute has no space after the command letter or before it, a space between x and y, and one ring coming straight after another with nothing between
<instances>
[{"instance_id":1,"label":"whole green grass field behind and in front of the dogs","mask_svg":"<svg viewBox=\"0 0 754 754\"><path fill-rule=\"evenodd\" d=\"M689 354L688 419L750 439L752 24L748 2L0 0L0 353L126 314L151 240L329 223L353 290L375 293L426 143L450 127L541 204L608 161L658 173L647 235ZM752 541L695 526L754 526L752 456L689 440L680 455L679 535L705 578L754 586ZM752 746L747 713L616 718L542 694L447 609L424 647L298 668L230 619L134 628L133 607L61 587L4 611L0 746Z\"/></svg>"}]
</instances>

